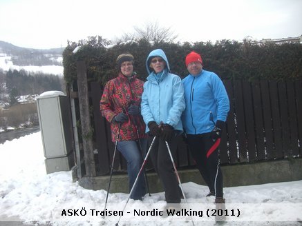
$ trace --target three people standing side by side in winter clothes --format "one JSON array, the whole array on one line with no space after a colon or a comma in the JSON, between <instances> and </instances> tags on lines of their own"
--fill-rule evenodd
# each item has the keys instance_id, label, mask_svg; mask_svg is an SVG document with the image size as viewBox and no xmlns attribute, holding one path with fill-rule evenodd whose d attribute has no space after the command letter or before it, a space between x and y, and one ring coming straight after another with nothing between
<instances>
[{"instance_id":1,"label":"three people standing side by side in winter clothes","mask_svg":"<svg viewBox=\"0 0 302 226\"><path fill-rule=\"evenodd\" d=\"M170 72L166 54L160 49L153 50L147 56L149 76L143 83L133 73L133 56L121 54L117 58L120 73L106 83L101 111L111 123L113 142L121 125L117 149L128 164L130 189L142 165L147 139L151 143L156 136L150 151L153 167L164 187L167 203L180 203L181 192L166 141L175 156L178 138L185 128L189 150L209 187L208 196L215 196L215 203L225 203L217 148L225 129L229 99L218 75L203 70L200 54L190 52L185 63L189 75L181 80ZM143 147L142 154L138 141ZM141 200L144 194L141 174L131 198Z\"/></svg>"}]
</instances>

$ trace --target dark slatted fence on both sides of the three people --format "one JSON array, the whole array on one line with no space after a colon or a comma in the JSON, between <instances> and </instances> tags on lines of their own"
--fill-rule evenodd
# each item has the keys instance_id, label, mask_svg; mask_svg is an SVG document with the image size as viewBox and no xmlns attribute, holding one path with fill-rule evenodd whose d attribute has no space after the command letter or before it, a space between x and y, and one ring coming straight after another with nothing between
<instances>
[{"instance_id":1,"label":"dark slatted fence on both sides of the three people","mask_svg":"<svg viewBox=\"0 0 302 226\"><path fill-rule=\"evenodd\" d=\"M250 83L236 80L224 81L224 84L231 107L220 143L221 163L227 165L301 158L302 81L262 80ZM88 82L87 86L93 134L84 138L80 128L78 134L75 134L79 138L77 159L81 160L77 165L92 164L96 175L104 175L110 171L114 144L111 141L110 125L100 114L102 85ZM73 111L77 120L74 124L78 124L81 114L78 89L81 88L75 84L68 92L75 103ZM91 139L93 150L83 150L83 139ZM84 161L87 151L93 152L94 162ZM178 167L194 165L187 145L182 140L178 141L175 161ZM151 163L147 167L151 168ZM82 175L85 175L87 167L81 168ZM115 157L114 169L117 172L126 171L126 161L121 154Z\"/></svg>"}]
</instances>

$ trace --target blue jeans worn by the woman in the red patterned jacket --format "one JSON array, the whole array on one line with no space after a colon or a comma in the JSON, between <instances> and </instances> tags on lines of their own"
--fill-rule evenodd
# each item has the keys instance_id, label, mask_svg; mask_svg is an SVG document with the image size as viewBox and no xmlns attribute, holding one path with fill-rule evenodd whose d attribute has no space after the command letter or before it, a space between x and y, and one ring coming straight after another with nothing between
<instances>
[{"instance_id":1,"label":"blue jeans worn by the woman in the red patterned jacket","mask_svg":"<svg viewBox=\"0 0 302 226\"><path fill-rule=\"evenodd\" d=\"M140 172L140 167L142 167L142 161L147 149L147 138L140 138L140 143L142 145L143 153L140 153L139 143L137 141L119 141L117 143L117 149L122 153L127 161L129 191L138 176L138 172ZM142 197L145 194L146 187L144 183L144 172L142 171L130 198L134 200L142 200Z\"/></svg>"}]
</instances>

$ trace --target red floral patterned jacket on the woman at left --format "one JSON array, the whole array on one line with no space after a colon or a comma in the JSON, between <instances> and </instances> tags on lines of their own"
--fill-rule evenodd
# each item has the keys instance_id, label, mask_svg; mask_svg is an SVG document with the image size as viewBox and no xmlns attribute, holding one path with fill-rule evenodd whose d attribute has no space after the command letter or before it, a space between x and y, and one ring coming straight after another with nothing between
<instances>
[{"instance_id":1,"label":"red floral patterned jacket on the woman at left","mask_svg":"<svg viewBox=\"0 0 302 226\"><path fill-rule=\"evenodd\" d=\"M113 142L116 141L119 127L119 123L114 121L114 117L120 112L126 113L129 121L122 123L119 141L135 141L138 139L138 134L139 138L147 137L147 134L144 133L146 125L142 116L128 114L128 107L131 104L140 107L143 85L144 82L137 79L136 76L128 79L122 73L106 83L100 101L100 111L102 116L111 123L111 140Z\"/></svg>"}]
</instances>

